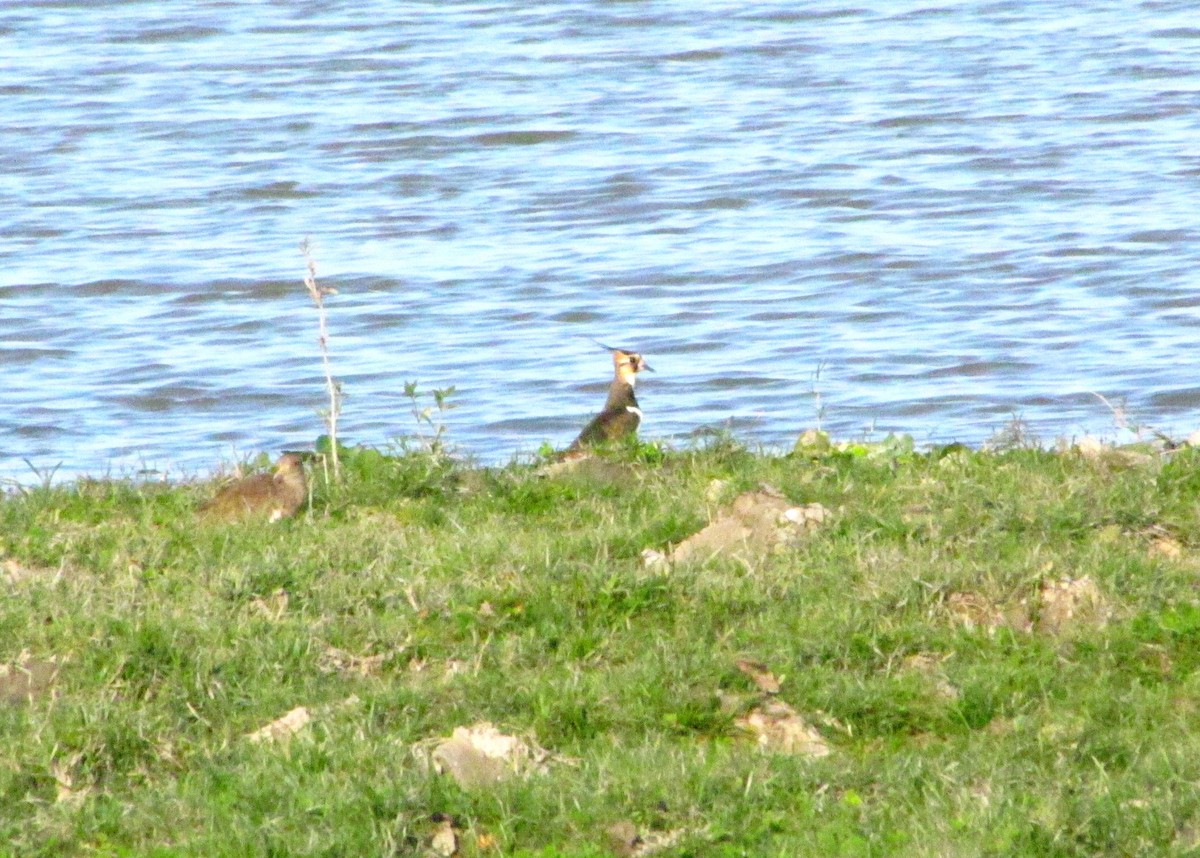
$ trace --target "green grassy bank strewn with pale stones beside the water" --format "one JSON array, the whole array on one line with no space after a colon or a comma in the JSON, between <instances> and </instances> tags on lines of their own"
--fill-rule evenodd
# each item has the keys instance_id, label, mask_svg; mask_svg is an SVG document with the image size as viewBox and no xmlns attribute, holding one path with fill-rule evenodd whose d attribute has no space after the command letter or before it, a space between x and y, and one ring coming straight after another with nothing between
<instances>
[{"instance_id":1,"label":"green grassy bank strewn with pale stones beside the water","mask_svg":"<svg viewBox=\"0 0 1200 858\"><path fill-rule=\"evenodd\" d=\"M343 467L276 524L197 523L211 485L0 502L0 844L1200 853L1195 451ZM828 520L760 557L643 565L763 482ZM760 746L743 725L772 697L829 754ZM289 740L247 738L296 707ZM484 786L430 766L480 721L548 756Z\"/></svg>"}]
</instances>

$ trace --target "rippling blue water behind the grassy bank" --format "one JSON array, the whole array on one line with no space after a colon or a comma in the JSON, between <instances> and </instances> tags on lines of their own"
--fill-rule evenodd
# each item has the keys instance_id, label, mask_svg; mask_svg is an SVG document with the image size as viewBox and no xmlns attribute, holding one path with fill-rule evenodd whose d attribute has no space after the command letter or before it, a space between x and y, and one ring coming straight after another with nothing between
<instances>
[{"instance_id":1,"label":"rippling blue water behind the grassy bank","mask_svg":"<svg viewBox=\"0 0 1200 858\"><path fill-rule=\"evenodd\" d=\"M311 444L305 236L352 442L1200 426L1194 5L871 6L4 5L0 476Z\"/></svg>"}]
</instances>

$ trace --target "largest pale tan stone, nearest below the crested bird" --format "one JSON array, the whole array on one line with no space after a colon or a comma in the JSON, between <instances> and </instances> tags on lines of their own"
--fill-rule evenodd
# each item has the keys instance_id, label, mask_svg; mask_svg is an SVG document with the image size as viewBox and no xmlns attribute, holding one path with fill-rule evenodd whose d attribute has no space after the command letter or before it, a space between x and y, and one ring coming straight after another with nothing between
<instances>
[{"instance_id":1,"label":"largest pale tan stone, nearest below the crested bird","mask_svg":"<svg viewBox=\"0 0 1200 858\"><path fill-rule=\"evenodd\" d=\"M762 554L798 542L828 518L829 510L821 504L796 506L770 488L745 492L670 554L648 548L642 557L644 564L653 568L664 563L703 562L719 554Z\"/></svg>"}]
</instances>

